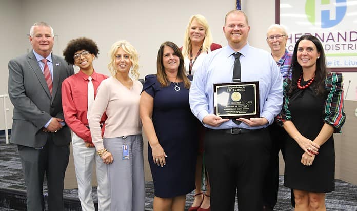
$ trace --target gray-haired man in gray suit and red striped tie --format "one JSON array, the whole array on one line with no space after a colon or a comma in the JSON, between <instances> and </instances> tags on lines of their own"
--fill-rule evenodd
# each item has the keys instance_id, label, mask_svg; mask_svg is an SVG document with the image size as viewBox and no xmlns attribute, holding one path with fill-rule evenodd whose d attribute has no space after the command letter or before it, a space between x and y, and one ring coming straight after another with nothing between
<instances>
[{"instance_id":1,"label":"gray-haired man in gray suit and red striped tie","mask_svg":"<svg viewBox=\"0 0 357 211\"><path fill-rule=\"evenodd\" d=\"M27 210L44 210L45 172L48 208L63 210L71 134L63 121L61 85L74 70L51 53L54 34L50 25L35 23L29 39L33 50L9 62L8 91L14 105L10 142L17 144L21 158Z\"/></svg>"}]
</instances>

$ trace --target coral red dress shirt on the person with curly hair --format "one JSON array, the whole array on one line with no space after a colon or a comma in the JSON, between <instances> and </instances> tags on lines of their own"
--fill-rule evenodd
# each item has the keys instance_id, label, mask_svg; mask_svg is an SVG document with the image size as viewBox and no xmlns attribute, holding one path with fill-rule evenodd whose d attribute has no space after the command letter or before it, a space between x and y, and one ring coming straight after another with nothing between
<instances>
[{"instance_id":1,"label":"coral red dress shirt on the person with curly hair","mask_svg":"<svg viewBox=\"0 0 357 211\"><path fill-rule=\"evenodd\" d=\"M62 106L66 124L78 137L83 139L85 142L92 143L92 137L90 136L90 131L87 128L88 77L88 75L79 71L63 81ZM93 71L91 77L94 86L95 98L98 86L104 79L108 78L108 76ZM104 123L106 119L107 116L104 113L101 118L101 123ZM102 127L102 136L103 133L104 126Z\"/></svg>"}]
</instances>

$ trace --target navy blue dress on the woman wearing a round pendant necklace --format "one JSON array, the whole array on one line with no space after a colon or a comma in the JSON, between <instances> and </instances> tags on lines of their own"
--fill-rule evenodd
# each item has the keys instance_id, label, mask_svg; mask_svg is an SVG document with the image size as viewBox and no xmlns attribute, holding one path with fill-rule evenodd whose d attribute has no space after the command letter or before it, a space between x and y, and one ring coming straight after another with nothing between
<instances>
[{"instance_id":1,"label":"navy blue dress on the woman wearing a round pendant necklace","mask_svg":"<svg viewBox=\"0 0 357 211\"><path fill-rule=\"evenodd\" d=\"M189 90L178 83L161 87L156 75L147 75L143 91L154 98L152 122L166 155L164 167L154 164L150 145L148 160L155 196L172 198L190 193L194 188L197 152L197 119L190 110Z\"/></svg>"}]
</instances>

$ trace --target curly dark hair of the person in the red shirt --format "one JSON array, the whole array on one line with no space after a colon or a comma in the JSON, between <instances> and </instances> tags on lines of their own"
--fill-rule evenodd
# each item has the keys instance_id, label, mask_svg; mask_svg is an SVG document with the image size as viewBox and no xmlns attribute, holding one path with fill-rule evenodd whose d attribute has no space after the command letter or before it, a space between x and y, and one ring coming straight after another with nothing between
<instances>
[{"instance_id":1,"label":"curly dark hair of the person in the red shirt","mask_svg":"<svg viewBox=\"0 0 357 211\"><path fill-rule=\"evenodd\" d=\"M74 65L74 53L80 50L87 50L91 54L94 54L95 57L98 57L99 54L98 46L92 39L80 37L70 40L67 47L63 51L66 62L70 65Z\"/></svg>"}]
</instances>

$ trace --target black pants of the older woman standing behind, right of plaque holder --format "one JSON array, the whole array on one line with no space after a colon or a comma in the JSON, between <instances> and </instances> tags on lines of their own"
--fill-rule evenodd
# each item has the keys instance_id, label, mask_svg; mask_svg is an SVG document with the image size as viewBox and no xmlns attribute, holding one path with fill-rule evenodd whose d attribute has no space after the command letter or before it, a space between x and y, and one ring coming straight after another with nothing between
<instances>
[{"instance_id":1,"label":"black pants of the older woman standing behind, right of plaque holder","mask_svg":"<svg viewBox=\"0 0 357 211\"><path fill-rule=\"evenodd\" d=\"M277 202L277 191L279 189L279 151L282 150L285 158L284 141L286 141L287 132L275 122L268 127L271 139L271 151L268 169L266 171L263 186L263 204L268 209L273 210ZM295 206L293 191L291 190L291 205Z\"/></svg>"}]
</instances>

